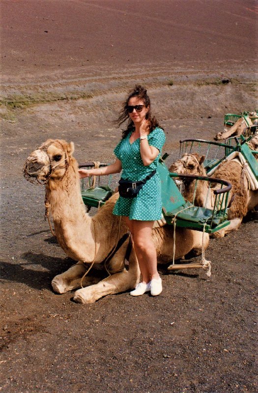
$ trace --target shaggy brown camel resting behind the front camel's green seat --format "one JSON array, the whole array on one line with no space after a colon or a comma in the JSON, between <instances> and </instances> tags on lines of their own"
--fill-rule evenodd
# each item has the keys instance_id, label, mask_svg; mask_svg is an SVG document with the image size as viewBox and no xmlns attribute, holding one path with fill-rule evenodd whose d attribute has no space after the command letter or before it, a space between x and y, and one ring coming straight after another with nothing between
<instances>
[{"instance_id":1,"label":"shaggy brown camel resting behind the front camel's green seat","mask_svg":"<svg viewBox=\"0 0 258 393\"><path fill-rule=\"evenodd\" d=\"M172 164L170 171L174 173L187 173L199 176L206 176L206 171L203 167L205 156L200 156L198 153L185 153L183 157ZM212 234L212 237L224 237L227 233L238 229L243 217L248 211L253 210L258 205L258 190L252 191L248 189L248 183L245 178L244 185L241 187L242 167L236 161L228 161L222 163L213 173L212 177L226 180L232 185L229 192L228 200L228 219L230 224ZM195 192L195 204L213 209L214 194L208 188L208 182L187 179L184 181L185 199L193 202ZM196 191L195 191L196 188ZM216 186L215 186L216 188Z\"/></svg>"}]
</instances>

